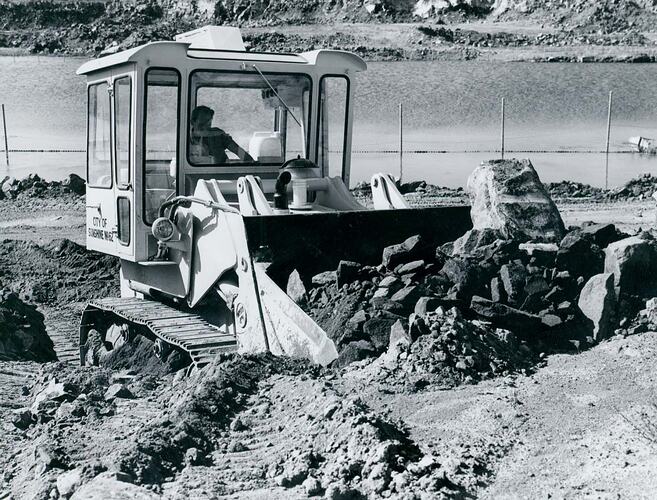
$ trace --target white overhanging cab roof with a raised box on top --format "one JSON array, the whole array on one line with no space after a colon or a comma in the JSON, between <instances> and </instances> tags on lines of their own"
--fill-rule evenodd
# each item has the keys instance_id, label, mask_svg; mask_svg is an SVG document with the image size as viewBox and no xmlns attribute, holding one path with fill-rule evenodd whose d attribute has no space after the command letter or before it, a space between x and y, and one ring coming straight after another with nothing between
<instances>
[{"instance_id":1,"label":"white overhanging cab roof with a raised box on top","mask_svg":"<svg viewBox=\"0 0 657 500\"><path fill-rule=\"evenodd\" d=\"M172 66L181 58L260 61L326 66L351 71L367 69L365 61L351 52L342 50L313 50L301 54L279 54L271 52L247 52L238 28L205 26L176 36L172 42L150 42L139 47L116 52L91 60L78 68L78 75L95 73L106 68L126 63L141 63L148 66L150 59L170 58Z\"/></svg>"}]
</instances>

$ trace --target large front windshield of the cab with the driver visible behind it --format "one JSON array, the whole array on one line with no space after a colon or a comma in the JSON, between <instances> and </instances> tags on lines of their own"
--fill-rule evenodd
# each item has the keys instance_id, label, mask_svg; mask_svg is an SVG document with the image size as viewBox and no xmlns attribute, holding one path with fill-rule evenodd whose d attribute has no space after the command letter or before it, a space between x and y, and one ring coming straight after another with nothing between
<instances>
[{"instance_id":1,"label":"large front windshield of the cab with the driver visible behind it","mask_svg":"<svg viewBox=\"0 0 657 500\"><path fill-rule=\"evenodd\" d=\"M308 147L306 75L195 71L190 80L191 165L276 165Z\"/></svg>"}]
</instances>

